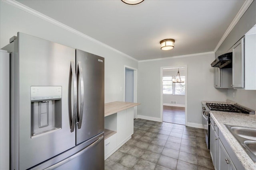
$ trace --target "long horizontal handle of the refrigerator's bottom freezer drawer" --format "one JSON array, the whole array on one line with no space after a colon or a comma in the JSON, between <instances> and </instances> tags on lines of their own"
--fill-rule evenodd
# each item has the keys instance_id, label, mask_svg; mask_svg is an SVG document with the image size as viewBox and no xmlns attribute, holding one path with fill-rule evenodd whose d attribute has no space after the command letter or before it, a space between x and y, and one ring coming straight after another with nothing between
<instances>
[{"instance_id":1,"label":"long horizontal handle of the refrigerator's bottom freezer drawer","mask_svg":"<svg viewBox=\"0 0 256 170\"><path fill-rule=\"evenodd\" d=\"M95 145L97 145L97 143L100 143L100 141L101 141L102 139L104 139L104 135L102 135L99 139L97 139L94 143L92 143L92 144L89 145L88 147L86 147L86 148L80 150L80 151L77 152L76 154L73 154L72 156L70 156L70 157L68 157L68 158L66 158L66 159L64 159L64 160L62 160L62 161L60 161L60 162L58 162L58 163L56 163L56 164L54 164L54 165L48 167L48 168L45 168L44 170L53 170L53 169L58 168L59 166L62 166L63 164L66 164L66 163L69 162L70 160L73 160L74 158L76 158L76 157L80 156L81 154L83 154L84 152L86 152L86 150L88 150L88 149L94 147Z\"/></svg>"}]
</instances>

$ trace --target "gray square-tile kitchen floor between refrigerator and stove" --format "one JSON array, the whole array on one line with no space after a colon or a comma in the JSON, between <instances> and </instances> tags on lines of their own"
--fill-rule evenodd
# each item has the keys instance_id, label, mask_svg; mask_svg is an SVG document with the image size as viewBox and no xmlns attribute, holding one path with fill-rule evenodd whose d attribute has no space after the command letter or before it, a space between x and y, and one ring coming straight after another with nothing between
<instances>
[{"instance_id":1,"label":"gray square-tile kitchen floor between refrigerator and stove","mask_svg":"<svg viewBox=\"0 0 256 170\"><path fill-rule=\"evenodd\" d=\"M105 160L105 170L213 170L204 131L184 125L134 120L134 134Z\"/></svg>"}]
</instances>

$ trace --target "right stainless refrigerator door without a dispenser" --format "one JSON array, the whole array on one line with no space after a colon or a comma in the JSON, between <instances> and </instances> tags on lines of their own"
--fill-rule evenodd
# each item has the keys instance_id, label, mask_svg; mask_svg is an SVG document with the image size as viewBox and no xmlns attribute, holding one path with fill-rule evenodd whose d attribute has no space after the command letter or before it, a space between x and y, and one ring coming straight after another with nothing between
<instances>
[{"instance_id":1,"label":"right stainless refrigerator door without a dispenser","mask_svg":"<svg viewBox=\"0 0 256 170\"><path fill-rule=\"evenodd\" d=\"M76 144L104 131L104 58L76 49Z\"/></svg>"}]
</instances>

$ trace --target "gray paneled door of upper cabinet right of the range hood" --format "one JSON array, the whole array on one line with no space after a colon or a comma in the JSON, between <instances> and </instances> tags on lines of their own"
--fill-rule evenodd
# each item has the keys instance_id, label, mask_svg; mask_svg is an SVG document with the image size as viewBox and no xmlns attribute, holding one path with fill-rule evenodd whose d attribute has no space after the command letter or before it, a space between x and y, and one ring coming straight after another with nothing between
<instances>
[{"instance_id":1,"label":"gray paneled door of upper cabinet right of the range hood","mask_svg":"<svg viewBox=\"0 0 256 170\"><path fill-rule=\"evenodd\" d=\"M244 88L244 37L232 49L232 84L234 88Z\"/></svg>"}]
</instances>

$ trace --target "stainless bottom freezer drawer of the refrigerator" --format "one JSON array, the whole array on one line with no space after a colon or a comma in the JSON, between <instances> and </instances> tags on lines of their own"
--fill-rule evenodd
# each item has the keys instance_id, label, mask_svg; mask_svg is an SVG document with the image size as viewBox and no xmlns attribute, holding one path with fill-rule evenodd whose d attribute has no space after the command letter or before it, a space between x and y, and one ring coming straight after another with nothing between
<instances>
[{"instance_id":1,"label":"stainless bottom freezer drawer of the refrigerator","mask_svg":"<svg viewBox=\"0 0 256 170\"><path fill-rule=\"evenodd\" d=\"M104 170L104 133L30 170Z\"/></svg>"}]
</instances>

